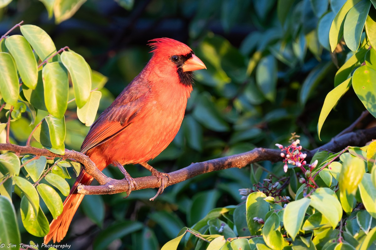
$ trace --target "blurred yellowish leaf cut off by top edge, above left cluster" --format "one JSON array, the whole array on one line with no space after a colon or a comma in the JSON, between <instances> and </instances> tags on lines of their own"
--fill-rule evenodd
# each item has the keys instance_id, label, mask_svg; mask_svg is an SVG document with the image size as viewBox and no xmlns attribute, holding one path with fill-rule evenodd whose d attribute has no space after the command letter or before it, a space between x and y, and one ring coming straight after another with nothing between
<instances>
[{"instance_id":1,"label":"blurred yellowish leaf cut off by top edge, above left cluster","mask_svg":"<svg viewBox=\"0 0 376 250\"><path fill-rule=\"evenodd\" d=\"M86 0L55 0L53 12L55 13L55 23L59 24L71 18Z\"/></svg>"}]
</instances>

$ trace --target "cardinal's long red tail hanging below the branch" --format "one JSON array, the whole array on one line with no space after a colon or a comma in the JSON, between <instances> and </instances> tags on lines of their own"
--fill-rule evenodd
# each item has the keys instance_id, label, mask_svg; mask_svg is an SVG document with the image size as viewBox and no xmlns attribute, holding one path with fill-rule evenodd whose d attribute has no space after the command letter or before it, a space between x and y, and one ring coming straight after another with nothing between
<instances>
[{"instance_id":1,"label":"cardinal's long red tail hanging below the branch","mask_svg":"<svg viewBox=\"0 0 376 250\"><path fill-rule=\"evenodd\" d=\"M77 177L69 195L64 201L63 212L55 220L52 220L50 224L50 232L44 237L44 243L47 244L49 241L60 242L67 234L69 225L72 221L74 214L79 207L83 196L77 193L78 184L90 185L94 178L91 175L86 174L85 171L81 171L80 175Z\"/></svg>"}]
</instances>

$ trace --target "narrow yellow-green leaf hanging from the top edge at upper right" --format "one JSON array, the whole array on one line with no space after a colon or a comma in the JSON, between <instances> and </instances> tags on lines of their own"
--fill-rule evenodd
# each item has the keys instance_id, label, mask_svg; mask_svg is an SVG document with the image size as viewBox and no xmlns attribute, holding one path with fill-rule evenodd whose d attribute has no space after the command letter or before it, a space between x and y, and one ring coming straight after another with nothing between
<instances>
[{"instance_id":1,"label":"narrow yellow-green leaf hanging from the top edge at upper right","mask_svg":"<svg viewBox=\"0 0 376 250\"><path fill-rule=\"evenodd\" d=\"M343 21L345 16L349 10L355 6L355 4L359 3L361 0L348 0L346 3L343 4L340 11L338 11L337 15L335 16L330 31L329 31L329 43L331 46L332 52L337 47L338 42L341 40L343 36Z\"/></svg>"}]
</instances>

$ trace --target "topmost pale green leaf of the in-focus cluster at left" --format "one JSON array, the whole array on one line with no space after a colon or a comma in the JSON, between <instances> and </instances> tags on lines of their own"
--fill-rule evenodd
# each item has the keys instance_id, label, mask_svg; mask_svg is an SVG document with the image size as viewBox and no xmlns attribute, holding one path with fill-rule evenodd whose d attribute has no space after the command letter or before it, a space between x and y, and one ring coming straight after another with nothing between
<instances>
[{"instance_id":1,"label":"topmost pale green leaf of the in-focus cluster at left","mask_svg":"<svg viewBox=\"0 0 376 250\"><path fill-rule=\"evenodd\" d=\"M20 29L27 42L30 43L42 61L56 52L56 47L51 37L38 26L26 24L22 25ZM48 61L52 61L52 58Z\"/></svg>"}]
</instances>

